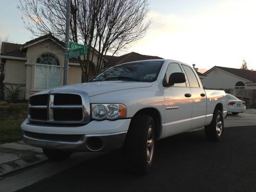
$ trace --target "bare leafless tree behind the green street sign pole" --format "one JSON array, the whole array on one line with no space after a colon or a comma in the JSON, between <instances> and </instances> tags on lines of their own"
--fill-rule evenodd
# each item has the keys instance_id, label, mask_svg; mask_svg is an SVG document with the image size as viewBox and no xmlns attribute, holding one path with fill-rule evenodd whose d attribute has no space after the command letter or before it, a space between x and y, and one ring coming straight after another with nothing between
<instances>
[{"instance_id":1,"label":"bare leafless tree behind the green street sign pole","mask_svg":"<svg viewBox=\"0 0 256 192\"><path fill-rule=\"evenodd\" d=\"M25 27L34 35L51 33L65 38L66 0L19 0ZM82 82L89 80L97 51L96 73L104 56L118 54L142 38L150 25L145 22L147 0L71 0L70 40L89 47L85 59L78 57Z\"/></svg>"}]
</instances>

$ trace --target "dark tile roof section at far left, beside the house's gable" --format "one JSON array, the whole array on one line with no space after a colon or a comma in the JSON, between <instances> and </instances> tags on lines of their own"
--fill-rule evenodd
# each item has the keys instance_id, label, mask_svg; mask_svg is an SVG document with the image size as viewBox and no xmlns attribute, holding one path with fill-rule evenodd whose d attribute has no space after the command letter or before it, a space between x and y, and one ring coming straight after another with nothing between
<instances>
[{"instance_id":1,"label":"dark tile roof section at far left, beside the house's gable","mask_svg":"<svg viewBox=\"0 0 256 192\"><path fill-rule=\"evenodd\" d=\"M11 42L2 42L1 55L13 57L26 57L26 51L20 50L21 44L12 44Z\"/></svg>"}]
</instances>

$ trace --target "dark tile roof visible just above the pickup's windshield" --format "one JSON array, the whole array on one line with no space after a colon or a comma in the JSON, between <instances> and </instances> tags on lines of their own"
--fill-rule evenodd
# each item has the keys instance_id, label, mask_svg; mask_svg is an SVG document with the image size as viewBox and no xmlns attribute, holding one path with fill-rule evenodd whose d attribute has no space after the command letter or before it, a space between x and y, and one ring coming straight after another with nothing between
<instances>
[{"instance_id":1,"label":"dark tile roof visible just above the pickup's windshield","mask_svg":"<svg viewBox=\"0 0 256 192\"><path fill-rule=\"evenodd\" d=\"M108 61L108 63L106 64L106 67L112 67L124 62L131 62L136 60L148 60L148 59L163 59L163 58L158 56L141 55L139 53L131 52L119 57L106 55L105 59Z\"/></svg>"}]
</instances>

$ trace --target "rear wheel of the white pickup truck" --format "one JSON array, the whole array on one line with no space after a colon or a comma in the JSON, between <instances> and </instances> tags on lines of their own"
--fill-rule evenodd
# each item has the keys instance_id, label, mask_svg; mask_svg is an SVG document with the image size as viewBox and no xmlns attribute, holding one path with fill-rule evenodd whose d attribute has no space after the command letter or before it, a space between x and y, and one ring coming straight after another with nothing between
<instances>
[{"instance_id":1,"label":"rear wheel of the white pickup truck","mask_svg":"<svg viewBox=\"0 0 256 192\"><path fill-rule=\"evenodd\" d=\"M211 123L204 127L205 136L210 141L221 139L224 130L223 116L220 110L214 111Z\"/></svg>"}]
</instances>

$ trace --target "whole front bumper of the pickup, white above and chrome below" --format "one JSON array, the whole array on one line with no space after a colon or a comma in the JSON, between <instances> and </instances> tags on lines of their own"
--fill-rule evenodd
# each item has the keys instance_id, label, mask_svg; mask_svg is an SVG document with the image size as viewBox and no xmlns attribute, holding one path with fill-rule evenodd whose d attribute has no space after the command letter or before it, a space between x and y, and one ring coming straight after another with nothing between
<instances>
[{"instance_id":1,"label":"whole front bumper of the pickup, white above and chrome below","mask_svg":"<svg viewBox=\"0 0 256 192\"><path fill-rule=\"evenodd\" d=\"M112 151L124 144L131 119L91 121L82 126L37 125L25 120L26 144L66 151ZM78 138L78 139L77 139Z\"/></svg>"}]
</instances>

